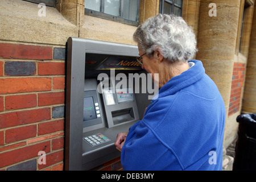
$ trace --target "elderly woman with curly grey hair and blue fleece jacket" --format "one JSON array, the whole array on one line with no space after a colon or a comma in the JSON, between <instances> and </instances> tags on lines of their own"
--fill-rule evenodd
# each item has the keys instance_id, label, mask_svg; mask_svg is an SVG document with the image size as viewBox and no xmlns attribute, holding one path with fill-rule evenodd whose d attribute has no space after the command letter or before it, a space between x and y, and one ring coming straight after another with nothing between
<instances>
[{"instance_id":1,"label":"elderly woman with curly grey hair and blue fleece jacket","mask_svg":"<svg viewBox=\"0 0 256 182\"><path fill-rule=\"evenodd\" d=\"M225 105L196 53L191 27L158 14L135 31L138 61L159 74L159 93L144 117L119 133L124 170L221 170ZM190 60L190 61L189 61Z\"/></svg>"}]
</instances>

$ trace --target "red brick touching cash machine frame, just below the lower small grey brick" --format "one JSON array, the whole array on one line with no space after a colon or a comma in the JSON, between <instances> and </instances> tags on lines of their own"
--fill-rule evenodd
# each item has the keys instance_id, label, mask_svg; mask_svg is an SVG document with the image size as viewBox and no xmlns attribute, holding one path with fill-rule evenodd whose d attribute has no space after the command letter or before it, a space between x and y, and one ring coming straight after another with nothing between
<instances>
[{"instance_id":1,"label":"red brick touching cash machine frame, just below the lower small grey brick","mask_svg":"<svg viewBox=\"0 0 256 182\"><path fill-rule=\"evenodd\" d=\"M45 135L64 130L64 120L39 123L38 135Z\"/></svg>"}]
</instances>

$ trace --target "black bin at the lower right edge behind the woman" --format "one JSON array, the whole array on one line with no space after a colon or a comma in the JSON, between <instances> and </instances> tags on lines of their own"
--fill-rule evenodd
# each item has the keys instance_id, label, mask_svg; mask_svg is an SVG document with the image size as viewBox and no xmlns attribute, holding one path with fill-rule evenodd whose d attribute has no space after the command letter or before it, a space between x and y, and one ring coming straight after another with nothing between
<instances>
[{"instance_id":1,"label":"black bin at the lower right edge behind the woman","mask_svg":"<svg viewBox=\"0 0 256 182\"><path fill-rule=\"evenodd\" d=\"M233 171L256 170L256 114L241 114Z\"/></svg>"}]
</instances>

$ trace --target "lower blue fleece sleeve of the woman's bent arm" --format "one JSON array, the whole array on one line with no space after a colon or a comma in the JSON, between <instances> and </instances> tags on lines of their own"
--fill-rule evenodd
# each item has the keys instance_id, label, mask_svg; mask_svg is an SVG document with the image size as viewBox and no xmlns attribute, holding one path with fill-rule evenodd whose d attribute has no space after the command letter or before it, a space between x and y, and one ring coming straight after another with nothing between
<instances>
[{"instance_id":1,"label":"lower blue fleece sleeve of the woman's bent arm","mask_svg":"<svg viewBox=\"0 0 256 182\"><path fill-rule=\"evenodd\" d=\"M130 128L122 148L124 170L182 170L175 155L155 137L143 121Z\"/></svg>"}]
</instances>

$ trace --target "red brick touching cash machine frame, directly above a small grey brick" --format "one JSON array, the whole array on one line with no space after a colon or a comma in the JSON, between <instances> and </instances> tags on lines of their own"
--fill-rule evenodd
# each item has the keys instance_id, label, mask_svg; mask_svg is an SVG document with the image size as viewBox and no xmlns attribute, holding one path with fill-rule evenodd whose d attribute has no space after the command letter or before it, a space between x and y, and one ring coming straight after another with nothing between
<instances>
[{"instance_id":1,"label":"red brick touching cash machine frame, directly above a small grey brick","mask_svg":"<svg viewBox=\"0 0 256 182\"><path fill-rule=\"evenodd\" d=\"M65 101L64 92L38 94L38 105L39 106L64 104L64 101Z\"/></svg>"}]
</instances>

